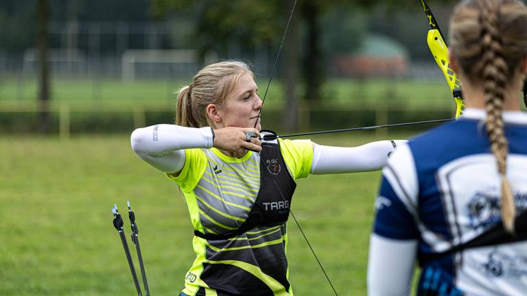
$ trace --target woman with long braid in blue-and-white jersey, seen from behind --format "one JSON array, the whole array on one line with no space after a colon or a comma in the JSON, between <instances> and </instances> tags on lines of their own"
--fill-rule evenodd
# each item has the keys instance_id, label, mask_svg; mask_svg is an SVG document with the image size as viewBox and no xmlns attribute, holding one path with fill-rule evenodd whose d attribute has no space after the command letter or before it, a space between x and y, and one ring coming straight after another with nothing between
<instances>
[{"instance_id":1,"label":"woman with long braid in blue-and-white jersey, seen from behind","mask_svg":"<svg viewBox=\"0 0 527 296\"><path fill-rule=\"evenodd\" d=\"M466 109L401 145L383 170L368 293L527 295L527 8L468 0L450 21Z\"/></svg>"}]
</instances>

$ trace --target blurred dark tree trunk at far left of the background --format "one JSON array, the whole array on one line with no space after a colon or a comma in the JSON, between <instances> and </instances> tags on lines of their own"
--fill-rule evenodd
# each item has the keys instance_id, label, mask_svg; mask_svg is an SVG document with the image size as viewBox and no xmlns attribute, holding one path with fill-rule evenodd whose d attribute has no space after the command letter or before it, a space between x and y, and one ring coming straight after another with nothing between
<instances>
[{"instance_id":1,"label":"blurred dark tree trunk at far left of the background","mask_svg":"<svg viewBox=\"0 0 527 296\"><path fill-rule=\"evenodd\" d=\"M48 64L48 23L49 5L47 0L38 0L38 102L40 132L49 132L49 64Z\"/></svg>"}]
</instances>

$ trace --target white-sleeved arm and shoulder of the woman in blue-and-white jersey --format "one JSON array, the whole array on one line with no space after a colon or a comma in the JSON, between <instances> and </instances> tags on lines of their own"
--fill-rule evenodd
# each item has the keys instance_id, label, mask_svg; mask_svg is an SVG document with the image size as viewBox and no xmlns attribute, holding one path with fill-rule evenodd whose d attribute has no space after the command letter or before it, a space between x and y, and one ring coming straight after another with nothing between
<instances>
[{"instance_id":1,"label":"white-sleeved arm and shoulder of the woman in blue-and-white jersey","mask_svg":"<svg viewBox=\"0 0 527 296\"><path fill-rule=\"evenodd\" d=\"M417 173L407 144L383 169L368 256L368 295L410 295L419 240Z\"/></svg>"}]
</instances>

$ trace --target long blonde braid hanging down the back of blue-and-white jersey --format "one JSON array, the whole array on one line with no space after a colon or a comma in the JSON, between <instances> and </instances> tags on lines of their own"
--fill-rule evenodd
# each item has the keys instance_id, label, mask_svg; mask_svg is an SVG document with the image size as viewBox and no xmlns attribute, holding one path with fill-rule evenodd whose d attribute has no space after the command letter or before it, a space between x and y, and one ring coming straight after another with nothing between
<instances>
[{"instance_id":1,"label":"long blonde braid hanging down the back of blue-and-white jersey","mask_svg":"<svg viewBox=\"0 0 527 296\"><path fill-rule=\"evenodd\" d=\"M508 141L504 134L502 117L505 86L510 76L502 54L502 39L497 27L501 1L484 1L481 14L482 26L482 76L484 83L484 104L487 112L485 125L491 142L491 151L497 162L502 188L502 220L508 232L514 232L515 205L511 185L506 177Z\"/></svg>"}]
</instances>

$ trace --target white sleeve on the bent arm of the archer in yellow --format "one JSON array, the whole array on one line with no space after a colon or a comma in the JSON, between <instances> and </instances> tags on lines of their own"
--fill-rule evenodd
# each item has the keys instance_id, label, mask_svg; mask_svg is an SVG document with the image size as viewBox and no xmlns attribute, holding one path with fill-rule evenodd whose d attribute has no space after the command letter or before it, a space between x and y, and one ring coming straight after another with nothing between
<instances>
[{"instance_id":1,"label":"white sleeve on the bent arm of the archer in yellow","mask_svg":"<svg viewBox=\"0 0 527 296\"><path fill-rule=\"evenodd\" d=\"M211 127L181 127L178 125L152 125L139 128L130 136L132 149L137 155L160 171L177 173L185 164L187 148L211 148Z\"/></svg>"}]
</instances>

